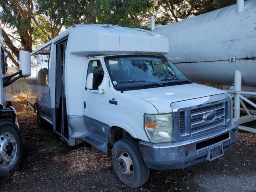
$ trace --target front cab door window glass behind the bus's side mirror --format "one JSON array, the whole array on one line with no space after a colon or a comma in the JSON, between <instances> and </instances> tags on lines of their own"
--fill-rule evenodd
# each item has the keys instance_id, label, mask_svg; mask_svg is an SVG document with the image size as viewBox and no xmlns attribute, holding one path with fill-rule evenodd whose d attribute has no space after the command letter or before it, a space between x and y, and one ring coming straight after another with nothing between
<instances>
[{"instance_id":1,"label":"front cab door window glass behind the bus's side mirror","mask_svg":"<svg viewBox=\"0 0 256 192\"><path fill-rule=\"evenodd\" d=\"M91 60L88 64L88 70L87 70L87 76L88 74L93 74L93 90L98 90L98 87L102 83L104 71L102 68L102 65L100 63L100 60Z\"/></svg>"}]
</instances>

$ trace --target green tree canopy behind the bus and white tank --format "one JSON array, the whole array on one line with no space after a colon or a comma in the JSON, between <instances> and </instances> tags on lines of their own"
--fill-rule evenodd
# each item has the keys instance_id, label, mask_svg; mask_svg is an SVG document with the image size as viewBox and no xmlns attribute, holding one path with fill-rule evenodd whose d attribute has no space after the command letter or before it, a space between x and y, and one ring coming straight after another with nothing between
<instances>
[{"instance_id":1,"label":"green tree canopy behind the bus and white tank","mask_svg":"<svg viewBox=\"0 0 256 192\"><path fill-rule=\"evenodd\" d=\"M149 29L152 14L156 23L165 24L234 3L236 0L0 0L0 22L12 29L4 41L15 62L20 49L32 51L72 24Z\"/></svg>"}]
</instances>

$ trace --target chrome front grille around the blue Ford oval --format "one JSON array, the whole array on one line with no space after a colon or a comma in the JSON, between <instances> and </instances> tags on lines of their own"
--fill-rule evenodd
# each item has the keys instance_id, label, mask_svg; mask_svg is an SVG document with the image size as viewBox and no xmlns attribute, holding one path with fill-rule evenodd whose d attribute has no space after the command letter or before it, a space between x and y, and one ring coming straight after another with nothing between
<instances>
[{"instance_id":1,"label":"chrome front grille around the blue Ford oval","mask_svg":"<svg viewBox=\"0 0 256 192\"><path fill-rule=\"evenodd\" d=\"M192 108L186 110L186 114L188 118L185 119L185 111L179 112L179 126L180 126L180 136L190 134L191 136L204 133L225 124L225 116L226 116L226 102L221 102L217 104L208 104L206 106ZM213 112L216 117L214 120L208 122L205 119L206 114ZM187 115L186 115L187 116ZM188 122L190 121L190 122ZM185 124L190 126L190 132L187 132L185 129ZM186 133L187 132L187 133Z\"/></svg>"}]
</instances>

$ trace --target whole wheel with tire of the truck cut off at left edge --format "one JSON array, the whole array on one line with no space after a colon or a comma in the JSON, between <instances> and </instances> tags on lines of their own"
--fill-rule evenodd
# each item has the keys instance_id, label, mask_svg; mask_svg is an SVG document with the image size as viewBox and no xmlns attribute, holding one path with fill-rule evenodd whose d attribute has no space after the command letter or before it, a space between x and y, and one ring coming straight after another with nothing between
<instances>
[{"instance_id":1,"label":"whole wheel with tire of the truck cut off at left edge","mask_svg":"<svg viewBox=\"0 0 256 192\"><path fill-rule=\"evenodd\" d=\"M0 121L0 182L19 168L22 157L22 138L18 127L8 120Z\"/></svg>"}]
</instances>

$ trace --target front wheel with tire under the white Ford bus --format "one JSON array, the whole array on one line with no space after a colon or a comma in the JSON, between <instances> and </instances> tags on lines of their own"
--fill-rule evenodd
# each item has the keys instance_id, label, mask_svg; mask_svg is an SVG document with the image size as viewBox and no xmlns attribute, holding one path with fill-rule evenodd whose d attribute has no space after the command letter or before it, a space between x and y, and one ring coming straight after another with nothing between
<instances>
[{"instance_id":1,"label":"front wheel with tire under the white Ford bus","mask_svg":"<svg viewBox=\"0 0 256 192\"><path fill-rule=\"evenodd\" d=\"M149 178L138 144L131 138L118 140L112 149L112 162L118 178L131 188L138 188Z\"/></svg>"}]
</instances>

